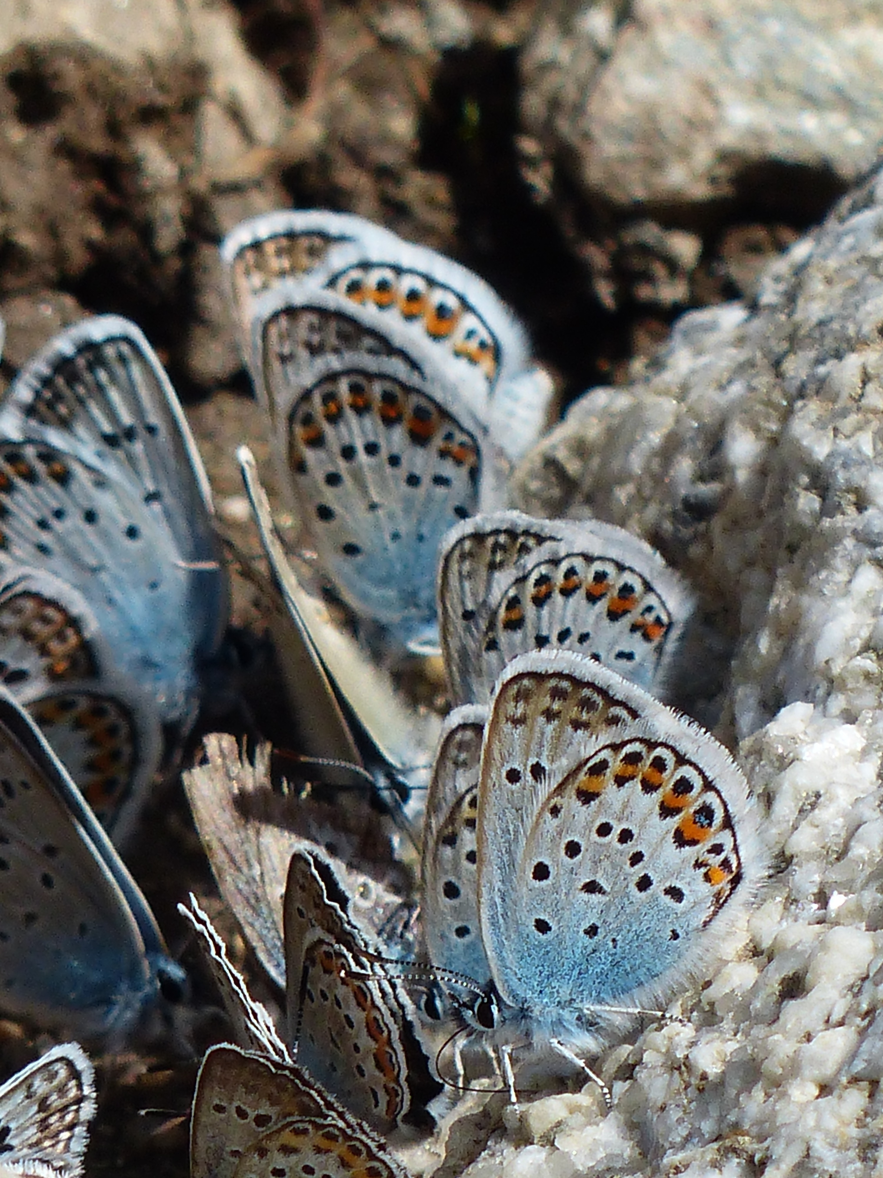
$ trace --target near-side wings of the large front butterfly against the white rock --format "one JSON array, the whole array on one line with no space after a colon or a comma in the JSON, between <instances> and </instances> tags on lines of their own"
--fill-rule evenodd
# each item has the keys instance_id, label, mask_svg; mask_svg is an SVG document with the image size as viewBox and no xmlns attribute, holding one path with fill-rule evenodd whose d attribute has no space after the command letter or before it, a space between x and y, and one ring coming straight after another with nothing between
<instances>
[{"instance_id":1,"label":"near-side wings of the large front butterfly against the white rock","mask_svg":"<svg viewBox=\"0 0 883 1178\"><path fill-rule=\"evenodd\" d=\"M567 651L520 656L497 686L478 832L493 978L540 1033L567 1013L669 993L711 948L712 921L751 895L759 862L726 750Z\"/></svg>"}]
</instances>

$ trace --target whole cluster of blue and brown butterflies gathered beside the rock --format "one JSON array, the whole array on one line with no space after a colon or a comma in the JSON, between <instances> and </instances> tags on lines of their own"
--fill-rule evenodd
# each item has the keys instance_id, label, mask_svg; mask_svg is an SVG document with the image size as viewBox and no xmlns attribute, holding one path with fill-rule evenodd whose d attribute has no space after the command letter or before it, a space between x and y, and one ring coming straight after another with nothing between
<instances>
[{"instance_id":1,"label":"whole cluster of blue and brown butterflies gathered beside the rock","mask_svg":"<svg viewBox=\"0 0 883 1178\"><path fill-rule=\"evenodd\" d=\"M233 737L185 773L221 895L286 995L278 1024L181 906L235 1038L199 1073L192 1173L401 1176L384 1137L486 1084L489 1060L513 1101L513 1057L596 1078L584 1055L701 971L750 900L757 819L729 754L663 702L680 578L622 529L506 509L551 385L494 292L328 212L255 218L221 253L296 521L283 543L241 450L301 742L370 781L399 833L352 790L328 830ZM117 317L18 376L0 468L0 1011L119 1044L186 981L119 851L218 661L210 489ZM398 686L437 654L444 721ZM0 1165L77 1174L93 1110L82 1051L54 1048L0 1090Z\"/></svg>"}]
</instances>

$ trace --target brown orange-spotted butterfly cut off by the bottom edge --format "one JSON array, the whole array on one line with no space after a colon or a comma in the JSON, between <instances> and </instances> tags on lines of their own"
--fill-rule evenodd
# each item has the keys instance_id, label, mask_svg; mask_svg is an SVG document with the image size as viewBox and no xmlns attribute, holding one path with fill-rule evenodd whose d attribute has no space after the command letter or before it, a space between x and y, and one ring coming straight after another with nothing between
<instances>
[{"instance_id":1,"label":"brown orange-spotted butterfly cut off by the bottom edge","mask_svg":"<svg viewBox=\"0 0 883 1178\"><path fill-rule=\"evenodd\" d=\"M191 1178L407 1178L384 1141L305 1068L219 1044L191 1116Z\"/></svg>"}]
</instances>

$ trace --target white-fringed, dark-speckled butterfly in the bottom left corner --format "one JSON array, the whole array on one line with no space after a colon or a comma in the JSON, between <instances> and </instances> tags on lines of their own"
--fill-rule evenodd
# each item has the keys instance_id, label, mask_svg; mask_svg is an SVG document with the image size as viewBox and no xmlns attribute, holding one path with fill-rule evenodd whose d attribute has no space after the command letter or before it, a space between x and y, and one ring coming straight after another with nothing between
<instances>
[{"instance_id":1,"label":"white-fringed, dark-speckled butterfly in the bottom left corner","mask_svg":"<svg viewBox=\"0 0 883 1178\"><path fill-rule=\"evenodd\" d=\"M86 1053L75 1043L52 1047L0 1085L0 1173L79 1178L94 1114Z\"/></svg>"}]
</instances>

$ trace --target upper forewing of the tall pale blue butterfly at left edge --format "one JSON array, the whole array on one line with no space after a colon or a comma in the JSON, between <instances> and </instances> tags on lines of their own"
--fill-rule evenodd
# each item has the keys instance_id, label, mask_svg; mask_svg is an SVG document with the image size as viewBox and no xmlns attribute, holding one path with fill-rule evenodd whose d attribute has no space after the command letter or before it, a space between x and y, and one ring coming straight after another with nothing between
<instances>
[{"instance_id":1,"label":"upper forewing of the tall pale blue butterfly at left edge","mask_svg":"<svg viewBox=\"0 0 883 1178\"><path fill-rule=\"evenodd\" d=\"M0 405L0 437L66 451L121 481L140 501L134 518L162 527L190 582L187 617L200 655L224 631L227 587L208 479L168 377L144 335L100 316L60 332L22 369Z\"/></svg>"}]
</instances>

